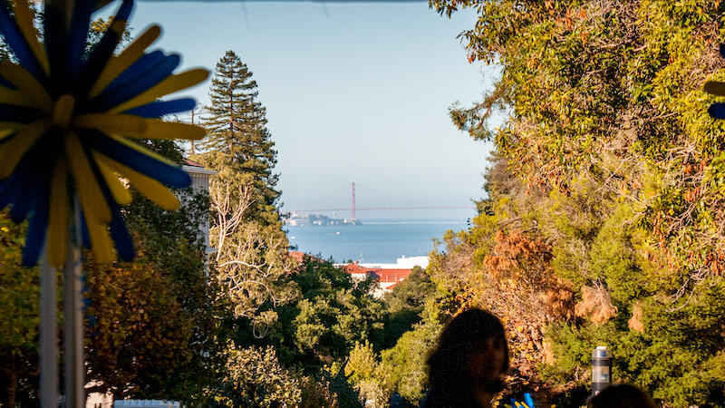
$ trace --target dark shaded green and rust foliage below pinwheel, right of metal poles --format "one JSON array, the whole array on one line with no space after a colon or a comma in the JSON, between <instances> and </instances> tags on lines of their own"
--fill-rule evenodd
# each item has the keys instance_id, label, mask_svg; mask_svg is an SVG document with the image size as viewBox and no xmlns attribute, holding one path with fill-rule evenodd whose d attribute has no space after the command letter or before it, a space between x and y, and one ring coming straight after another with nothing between
<instances>
[{"instance_id":1,"label":"dark shaded green and rust foliage below pinwheel, right of metal poles","mask_svg":"<svg viewBox=\"0 0 725 408\"><path fill-rule=\"evenodd\" d=\"M171 142L141 141L173 159ZM218 287L208 282L208 193L178 190L182 205L167 211L134 194L124 213L137 259L112 266L90 259L87 378L93 391L116 396L196 401L218 361ZM169 375L174 373L174 375Z\"/></svg>"}]
</instances>

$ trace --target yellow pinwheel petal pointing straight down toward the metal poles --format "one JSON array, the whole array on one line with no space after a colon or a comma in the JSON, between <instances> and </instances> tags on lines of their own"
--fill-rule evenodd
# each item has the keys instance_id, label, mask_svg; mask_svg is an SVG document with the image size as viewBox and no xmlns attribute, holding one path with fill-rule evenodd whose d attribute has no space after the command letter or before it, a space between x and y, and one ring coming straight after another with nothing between
<instances>
[{"instance_id":1,"label":"yellow pinwheel petal pointing straight down toward the metal poles","mask_svg":"<svg viewBox=\"0 0 725 408\"><path fill-rule=\"evenodd\" d=\"M58 160L53 169L51 184L51 209L48 220L48 234L46 245L48 260L53 267L63 267L65 261L66 244L68 241L68 186L66 178L68 168L63 160Z\"/></svg>"}]
</instances>

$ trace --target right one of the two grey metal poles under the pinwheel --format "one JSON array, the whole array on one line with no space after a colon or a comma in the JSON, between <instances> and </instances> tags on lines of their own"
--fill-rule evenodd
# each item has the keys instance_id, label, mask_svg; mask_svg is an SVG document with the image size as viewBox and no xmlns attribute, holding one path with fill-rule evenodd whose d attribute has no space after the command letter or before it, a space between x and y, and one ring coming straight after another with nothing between
<instances>
[{"instance_id":1,"label":"right one of the two grey metal poles under the pinwheel","mask_svg":"<svg viewBox=\"0 0 725 408\"><path fill-rule=\"evenodd\" d=\"M85 406L85 365L83 364L83 298L80 249L81 206L73 199L69 224L68 249L65 256L63 287L64 374L66 408Z\"/></svg>"}]
</instances>

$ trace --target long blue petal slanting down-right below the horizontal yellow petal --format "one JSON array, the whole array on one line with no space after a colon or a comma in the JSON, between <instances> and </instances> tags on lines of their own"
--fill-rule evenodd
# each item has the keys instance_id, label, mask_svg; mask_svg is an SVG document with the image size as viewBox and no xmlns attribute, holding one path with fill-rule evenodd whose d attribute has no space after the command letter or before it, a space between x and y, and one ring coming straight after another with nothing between
<instances>
[{"instance_id":1,"label":"long blue petal slanting down-right below the horizontal yellow petal","mask_svg":"<svg viewBox=\"0 0 725 408\"><path fill-rule=\"evenodd\" d=\"M84 131L83 143L168 187L184 189L191 185L191 177L186 171L114 141L102 132Z\"/></svg>"}]
</instances>

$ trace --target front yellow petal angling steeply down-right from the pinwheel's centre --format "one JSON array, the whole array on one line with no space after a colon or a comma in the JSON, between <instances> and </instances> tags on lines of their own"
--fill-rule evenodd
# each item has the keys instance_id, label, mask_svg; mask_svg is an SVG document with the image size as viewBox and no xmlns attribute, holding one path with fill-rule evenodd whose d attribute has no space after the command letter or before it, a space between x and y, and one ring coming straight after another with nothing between
<instances>
[{"instance_id":1,"label":"front yellow petal angling steeply down-right from the pinwheel's centre","mask_svg":"<svg viewBox=\"0 0 725 408\"><path fill-rule=\"evenodd\" d=\"M83 212L86 219L92 219L96 223L108 224L111 222L111 209L103 197L101 187L98 185L91 170L91 164L83 151L78 136L68 133L64 138L65 154L71 162L71 172L75 189L81 199ZM90 227L89 227L90 228Z\"/></svg>"}]
</instances>

